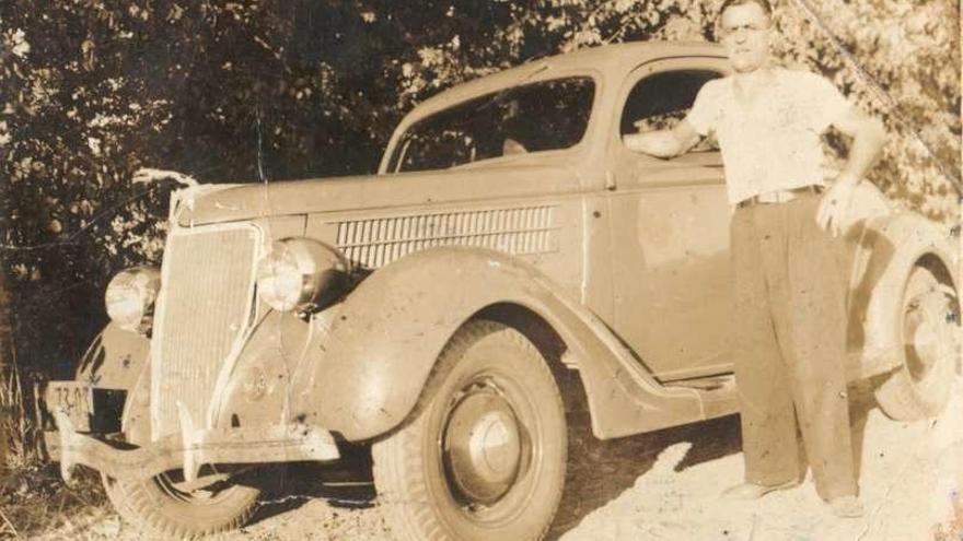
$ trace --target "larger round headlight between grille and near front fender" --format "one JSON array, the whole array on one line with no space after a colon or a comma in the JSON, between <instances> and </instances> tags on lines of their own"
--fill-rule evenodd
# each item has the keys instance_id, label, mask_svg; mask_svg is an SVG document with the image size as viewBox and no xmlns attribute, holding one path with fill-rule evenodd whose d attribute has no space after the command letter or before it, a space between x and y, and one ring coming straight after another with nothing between
<instances>
[{"instance_id":1,"label":"larger round headlight between grille and near front fender","mask_svg":"<svg viewBox=\"0 0 963 541\"><path fill-rule=\"evenodd\" d=\"M280 311L320 306L338 293L347 272L334 248L310 238L287 238L271 245L257 263L257 294Z\"/></svg>"}]
</instances>

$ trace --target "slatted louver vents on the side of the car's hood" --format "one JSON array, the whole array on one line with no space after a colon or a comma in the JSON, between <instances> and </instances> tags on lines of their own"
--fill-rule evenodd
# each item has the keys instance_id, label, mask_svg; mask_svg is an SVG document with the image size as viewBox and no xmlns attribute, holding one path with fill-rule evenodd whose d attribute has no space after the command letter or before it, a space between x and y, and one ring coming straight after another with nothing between
<instances>
[{"instance_id":1,"label":"slatted louver vents on the side of the car's hood","mask_svg":"<svg viewBox=\"0 0 963 541\"><path fill-rule=\"evenodd\" d=\"M508 254L557 250L553 207L385 216L337 222L337 247L355 264L376 269L434 246L478 246Z\"/></svg>"}]
</instances>

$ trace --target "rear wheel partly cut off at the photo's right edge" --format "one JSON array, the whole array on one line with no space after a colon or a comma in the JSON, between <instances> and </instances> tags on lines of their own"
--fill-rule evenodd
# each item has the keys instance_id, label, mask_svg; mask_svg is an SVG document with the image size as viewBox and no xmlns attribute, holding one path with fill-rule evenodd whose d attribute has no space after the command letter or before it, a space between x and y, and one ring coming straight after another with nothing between
<instances>
[{"instance_id":1,"label":"rear wheel partly cut off at the photo's right edge","mask_svg":"<svg viewBox=\"0 0 963 541\"><path fill-rule=\"evenodd\" d=\"M904 289L903 363L875 389L877 402L896 421L939 415L950 398L959 355L960 301L924 267Z\"/></svg>"}]
</instances>

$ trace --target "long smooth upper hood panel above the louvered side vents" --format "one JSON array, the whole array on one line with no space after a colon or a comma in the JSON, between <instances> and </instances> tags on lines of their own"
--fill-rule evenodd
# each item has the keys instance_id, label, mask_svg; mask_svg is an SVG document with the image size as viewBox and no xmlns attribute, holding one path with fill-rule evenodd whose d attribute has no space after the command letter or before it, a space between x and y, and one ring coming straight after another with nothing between
<instances>
[{"instance_id":1,"label":"long smooth upper hood panel above the louvered side vents","mask_svg":"<svg viewBox=\"0 0 963 541\"><path fill-rule=\"evenodd\" d=\"M566 161L552 165L508 163L438 172L285 180L248 185L202 185L182 190L182 226L266 216L312 214L430 203L515 198L579 189Z\"/></svg>"}]
</instances>

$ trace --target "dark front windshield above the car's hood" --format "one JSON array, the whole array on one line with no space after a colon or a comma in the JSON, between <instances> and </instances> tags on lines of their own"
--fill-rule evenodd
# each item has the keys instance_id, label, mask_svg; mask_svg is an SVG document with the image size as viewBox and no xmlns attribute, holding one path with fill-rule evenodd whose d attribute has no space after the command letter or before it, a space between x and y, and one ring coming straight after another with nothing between
<instances>
[{"instance_id":1,"label":"dark front windshield above the car's hood","mask_svg":"<svg viewBox=\"0 0 963 541\"><path fill-rule=\"evenodd\" d=\"M413 125L390 170L430 170L581 141L595 85L587 77L539 81L488 94Z\"/></svg>"}]
</instances>

